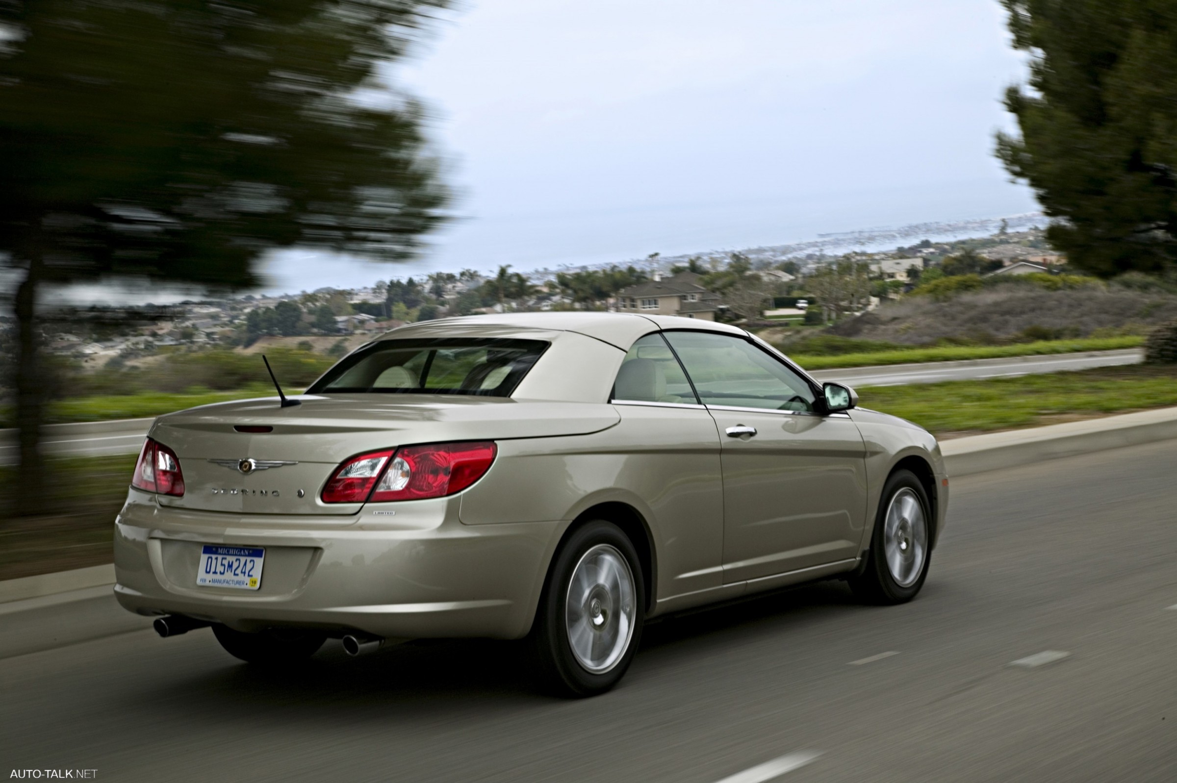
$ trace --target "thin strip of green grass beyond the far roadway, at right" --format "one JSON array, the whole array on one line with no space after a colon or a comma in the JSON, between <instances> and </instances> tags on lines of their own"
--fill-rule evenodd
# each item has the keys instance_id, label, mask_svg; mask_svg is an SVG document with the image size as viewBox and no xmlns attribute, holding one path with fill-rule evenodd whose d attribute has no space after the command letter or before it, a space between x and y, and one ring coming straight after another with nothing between
<instances>
[{"instance_id":1,"label":"thin strip of green grass beyond the far roadway, at right","mask_svg":"<svg viewBox=\"0 0 1177 783\"><path fill-rule=\"evenodd\" d=\"M1075 340L1039 340L1036 343L1015 343L1011 345L944 345L936 347L913 346L911 349L843 353L840 356L806 356L804 353L790 353L789 357L806 370L833 370L840 367L865 367L924 361L1006 359L1019 356L1075 353L1077 351L1116 351L1122 349L1135 349L1142 345L1144 345L1143 337L1126 336ZM785 353L789 353L787 346L784 346L784 349Z\"/></svg>"}]
</instances>

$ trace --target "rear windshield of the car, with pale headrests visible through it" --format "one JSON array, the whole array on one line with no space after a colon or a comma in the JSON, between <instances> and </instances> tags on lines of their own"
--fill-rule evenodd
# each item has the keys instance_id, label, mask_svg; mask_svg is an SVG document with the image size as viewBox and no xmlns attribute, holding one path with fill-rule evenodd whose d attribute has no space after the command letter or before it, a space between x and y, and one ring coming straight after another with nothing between
<instances>
[{"instance_id":1,"label":"rear windshield of the car, with pale headrests visible through it","mask_svg":"<svg viewBox=\"0 0 1177 783\"><path fill-rule=\"evenodd\" d=\"M497 338L380 340L345 357L307 393L510 397L547 345Z\"/></svg>"}]
</instances>

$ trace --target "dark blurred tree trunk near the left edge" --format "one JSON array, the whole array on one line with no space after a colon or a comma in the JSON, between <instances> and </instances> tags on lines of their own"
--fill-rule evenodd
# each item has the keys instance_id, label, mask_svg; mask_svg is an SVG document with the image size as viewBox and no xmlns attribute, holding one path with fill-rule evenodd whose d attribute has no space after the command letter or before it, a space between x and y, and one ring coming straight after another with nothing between
<instances>
[{"instance_id":1,"label":"dark blurred tree trunk near the left edge","mask_svg":"<svg viewBox=\"0 0 1177 783\"><path fill-rule=\"evenodd\" d=\"M45 418L45 386L36 336L36 286L41 278L41 252L34 250L28 261L28 274L16 288L13 311L16 317L16 429L20 467L16 491L13 492L13 513L18 517L39 513L44 476L38 442Z\"/></svg>"}]
</instances>

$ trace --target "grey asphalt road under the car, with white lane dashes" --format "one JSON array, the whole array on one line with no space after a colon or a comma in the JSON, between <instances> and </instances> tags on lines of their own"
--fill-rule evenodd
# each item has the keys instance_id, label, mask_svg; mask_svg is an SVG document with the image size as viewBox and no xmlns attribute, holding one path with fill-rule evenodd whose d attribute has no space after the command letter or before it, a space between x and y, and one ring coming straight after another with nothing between
<instances>
[{"instance_id":1,"label":"grey asphalt road under the car, with white lane dashes","mask_svg":"<svg viewBox=\"0 0 1177 783\"><path fill-rule=\"evenodd\" d=\"M780 759L734 779L1168 783L1173 476L1177 442L958 479L915 602L823 583L670 618L588 701L536 692L514 643L331 648L290 675L207 630L8 658L0 775L716 783Z\"/></svg>"}]
</instances>

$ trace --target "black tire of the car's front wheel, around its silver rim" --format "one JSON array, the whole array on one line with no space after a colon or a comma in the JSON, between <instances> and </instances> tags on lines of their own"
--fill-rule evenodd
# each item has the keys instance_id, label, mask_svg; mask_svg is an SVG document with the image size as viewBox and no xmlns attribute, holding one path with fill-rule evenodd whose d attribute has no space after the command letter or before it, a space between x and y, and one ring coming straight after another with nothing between
<instances>
[{"instance_id":1,"label":"black tire of the car's front wheel, around its silver rim","mask_svg":"<svg viewBox=\"0 0 1177 783\"><path fill-rule=\"evenodd\" d=\"M886 518L892 500L897 496L910 498L915 496L923 512L923 563L911 577L897 580L887 565ZM903 604L919 593L927 578L927 568L932 562L932 505L927 500L927 491L916 475L907 470L897 470L883 485L878 512L875 516L875 527L871 531L871 545L866 550L865 569L850 577L850 586L860 600L871 604ZM909 540L915 539L915 535ZM915 569L915 566L912 566Z\"/></svg>"}]
</instances>

